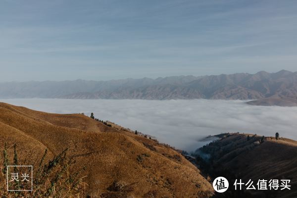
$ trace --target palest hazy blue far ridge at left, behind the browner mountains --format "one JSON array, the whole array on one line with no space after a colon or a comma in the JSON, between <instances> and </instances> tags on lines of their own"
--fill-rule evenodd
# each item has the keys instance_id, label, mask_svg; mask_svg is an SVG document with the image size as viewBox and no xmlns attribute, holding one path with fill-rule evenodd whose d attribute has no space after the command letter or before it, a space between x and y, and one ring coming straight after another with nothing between
<instances>
[{"instance_id":1,"label":"palest hazy blue far ridge at left, behind the browner mountains","mask_svg":"<svg viewBox=\"0 0 297 198\"><path fill-rule=\"evenodd\" d=\"M140 88L151 85L180 85L198 79L195 76L123 79L109 81L29 81L0 83L0 98L63 98L76 93L113 92L118 89Z\"/></svg>"}]
</instances>

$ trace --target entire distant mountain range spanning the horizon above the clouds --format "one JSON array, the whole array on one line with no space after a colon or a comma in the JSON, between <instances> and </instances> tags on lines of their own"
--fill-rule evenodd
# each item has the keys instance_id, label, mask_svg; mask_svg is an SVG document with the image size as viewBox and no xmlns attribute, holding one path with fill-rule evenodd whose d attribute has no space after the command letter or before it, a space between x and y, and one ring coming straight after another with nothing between
<instances>
[{"instance_id":1,"label":"entire distant mountain range spanning the horizon above the clouds","mask_svg":"<svg viewBox=\"0 0 297 198\"><path fill-rule=\"evenodd\" d=\"M297 72L173 76L110 81L0 83L0 98L297 99Z\"/></svg>"}]
</instances>

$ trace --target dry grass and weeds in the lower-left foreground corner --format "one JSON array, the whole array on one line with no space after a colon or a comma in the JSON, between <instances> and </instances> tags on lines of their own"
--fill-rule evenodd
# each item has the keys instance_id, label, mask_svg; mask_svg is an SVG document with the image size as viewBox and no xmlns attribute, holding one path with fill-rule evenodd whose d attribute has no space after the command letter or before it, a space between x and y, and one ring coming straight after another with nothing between
<instances>
[{"instance_id":1,"label":"dry grass and weeds in the lower-left foreground corner","mask_svg":"<svg viewBox=\"0 0 297 198\"><path fill-rule=\"evenodd\" d=\"M7 148L3 150L3 164L1 166L0 197L1 198L81 198L86 196L87 184L80 177L81 172L69 173L73 165L72 159L66 155L67 149L54 156L47 163L45 150L40 160L35 177L33 178L34 191L8 192L6 184L6 168L9 164ZM17 149L14 145L13 164L18 165ZM83 170L83 169L82 169ZM10 183L9 183L10 184ZM20 189L18 183L9 185L10 189Z\"/></svg>"}]
</instances>

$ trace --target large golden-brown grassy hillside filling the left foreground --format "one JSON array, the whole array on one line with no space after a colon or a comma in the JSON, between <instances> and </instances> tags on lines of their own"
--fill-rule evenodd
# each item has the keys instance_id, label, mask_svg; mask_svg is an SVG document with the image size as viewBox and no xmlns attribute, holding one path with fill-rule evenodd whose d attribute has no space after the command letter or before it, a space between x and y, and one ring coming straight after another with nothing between
<instances>
[{"instance_id":1,"label":"large golden-brown grassy hillside filling the left foreground","mask_svg":"<svg viewBox=\"0 0 297 198\"><path fill-rule=\"evenodd\" d=\"M84 115L49 114L0 103L1 150L4 143L10 148L16 143L20 162L33 166L45 148L49 157L68 148L67 155L75 159L74 169L86 166L82 174L87 176L89 195L108 192L114 181L133 184L131 198L212 195L211 184L177 151Z\"/></svg>"}]
</instances>

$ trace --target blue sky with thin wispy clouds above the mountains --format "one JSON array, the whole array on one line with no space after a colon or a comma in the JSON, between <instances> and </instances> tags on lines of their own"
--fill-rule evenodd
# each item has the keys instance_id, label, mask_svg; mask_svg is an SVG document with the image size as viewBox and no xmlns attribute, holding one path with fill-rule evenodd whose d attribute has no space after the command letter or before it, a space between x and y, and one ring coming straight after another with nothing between
<instances>
[{"instance_id":1,"label":"blue sky with thin wispy clouds above the mountains","mask_svg":"<svg viewBox=\"0 0 297 198\"><path fill-rule=\"evenodd\" d=\"M0 0L0 81L297 71L296 0Z\"/></svg>"}]
</instances>

